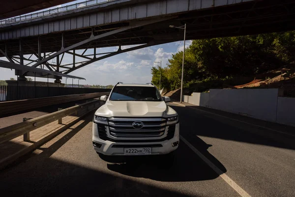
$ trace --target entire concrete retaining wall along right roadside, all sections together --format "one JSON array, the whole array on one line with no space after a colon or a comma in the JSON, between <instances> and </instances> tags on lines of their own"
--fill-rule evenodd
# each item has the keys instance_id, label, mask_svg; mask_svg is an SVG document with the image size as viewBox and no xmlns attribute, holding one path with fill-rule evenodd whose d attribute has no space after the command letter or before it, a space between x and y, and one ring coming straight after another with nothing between
<instances>
[{"instance_id":1,"label":"entire concrete retaining wall along right roadside, all sections together","mask_svg":"<svg viewBox=\"0 0 295 197\"><path fill-rule=\"evenodd\" d=\"M184 96L184 102L256 119L295 126L295 98L279 97L279 89L210 89Z\"/></svg>"}]
</instances>

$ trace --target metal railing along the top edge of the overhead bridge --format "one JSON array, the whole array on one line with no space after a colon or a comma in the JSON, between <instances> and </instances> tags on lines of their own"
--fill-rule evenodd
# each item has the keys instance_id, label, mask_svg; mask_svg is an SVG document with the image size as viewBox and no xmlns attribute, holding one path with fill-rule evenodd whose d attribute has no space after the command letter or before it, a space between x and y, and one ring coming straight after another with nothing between
<instances>
[{"instance_id":1,"label":"metal railing along the top edge of the overhead bridge","mask_svg":"<svg viewBox=\"0 0 295 197\"><path fill-rule=\"evenodd\" d=\"M41 16L48 16L51 14L65 12L65 11L69 11L69 10L73 10L73 9L77 9L77 8L81 8L81 7L86 7L86 6L90 6L90 5L107 3L109 1L112 1L112 0L87 0L84 2L66 5L66 6L62 6L62 7L57 7L54 9L48 9L48 10L44 10L44 11L40 11L40 12L36 12L36 13L26 14L23 16L17 16L17 17L12 17L9 19L4 19L4 20L0 21L0 25L16 23L16 22L25 21L28 19L41 17Z\"/></svg>"}]
</instances>

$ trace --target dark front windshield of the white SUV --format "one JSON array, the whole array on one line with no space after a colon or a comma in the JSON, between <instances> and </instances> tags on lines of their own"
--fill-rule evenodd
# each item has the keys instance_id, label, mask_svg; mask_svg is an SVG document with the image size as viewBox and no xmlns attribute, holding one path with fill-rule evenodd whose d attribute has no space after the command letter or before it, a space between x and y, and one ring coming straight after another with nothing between
<instances>
[{"instance_id":1,"label":"dark front windshield of the white SUV","mask_svg":"<svg viewBox=\"0 0 295 197\"><path fill-rule=\"evenodd\" d=\"M162 101L155 87L116 86L110 100Z\"/></svg>"}]
</instances>

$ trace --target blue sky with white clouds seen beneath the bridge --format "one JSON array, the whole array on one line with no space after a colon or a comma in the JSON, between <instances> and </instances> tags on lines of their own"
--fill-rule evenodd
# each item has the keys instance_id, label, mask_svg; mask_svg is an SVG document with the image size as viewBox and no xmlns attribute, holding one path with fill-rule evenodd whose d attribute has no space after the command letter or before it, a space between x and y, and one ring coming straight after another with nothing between
<instances>
[{"instance_id":1,"label":"blue sky with white clouds seen beneath the bridge","mask_svg":"<svg viewBox=\"0 0 295 197\"><path fill-rule=\"evenodd\" d=\"M66 4L73 4L76 2L82 2L82 0ZM190 44L191 40L186 40L185 46L188 47ZM122 46L121 48L124 49L129 47L132 46ZM114 52L117 50L118 47L105 47L96 49L96 53ZM91 53L92 51L93 49L89 49L86 54ZM157 65L160 66L160 64L154 62L162 61L162 67L166 67L168 59L171 59L172 54L175 54L178 51L183 51L183 41L171 42L121 53L74 70L69 74L86 78L86 81L80 80L79 83L88 85L114 85L119 81L123 83L148 83L151 81L151 67ZM81 54L83 53L83 50L77 50L76 53ZM0 58L0 60L7 61L6 58ZM76 62L82 60L85 59L77 58ZM54 61L56 62L56 59L54 59ZM49 62L51 63L52 60ZM65 54L62 64L70 63L72 63L72 56ZM0 67L0 80L8 80L10 77L17 78L14 75L14 70ZM71 83L72 81L72 79L67 80L69 80L67 83ZM47 78L36 77L36 81L47 81ZM49 79L49 82L53 81L54 79ZM61 81L62 83L65 83L64 78ZM78 83L77 79L74 79L74 84L75 83Z\"/></svg>"}]
</instances>

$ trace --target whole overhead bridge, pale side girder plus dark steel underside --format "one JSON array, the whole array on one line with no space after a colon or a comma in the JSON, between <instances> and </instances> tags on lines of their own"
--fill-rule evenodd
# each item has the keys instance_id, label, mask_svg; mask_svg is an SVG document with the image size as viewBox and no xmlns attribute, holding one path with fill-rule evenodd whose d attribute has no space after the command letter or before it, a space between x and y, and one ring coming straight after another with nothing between
<instances>
[{"instance_id":1,"label":"whole overhead bridge, pale side girder plus dark steel underside","mask_svg":"<svg viewBox=\"0 0 295 197\"><path fill-rule=\"evenodd\" d=\"M68 74L120 53L182 40L183 31L169 26L184 24L187 39L294 30L295 1L109 0L76 6L0 25L0 56L14 64L24 65L25 60L29 66ZM119 46L118 51L96 53L110 46ZM84 51L78 53L80 49ZM26 54L35 59L24 58ZM64 54L72 56L71 64L62 64ZM56 64L50 63L53 58ZM33 76L30 71L16 74Z\"/></svg>"}]
</instances>

